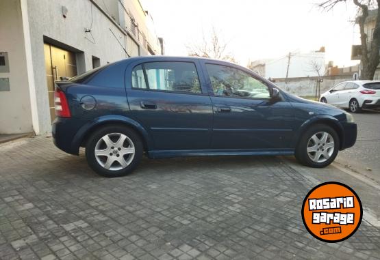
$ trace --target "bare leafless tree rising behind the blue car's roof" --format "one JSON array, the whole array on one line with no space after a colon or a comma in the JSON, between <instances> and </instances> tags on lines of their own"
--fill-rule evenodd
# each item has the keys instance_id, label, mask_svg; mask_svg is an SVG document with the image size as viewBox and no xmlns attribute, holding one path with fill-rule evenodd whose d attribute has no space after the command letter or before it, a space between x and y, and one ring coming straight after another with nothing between
<instances>
[{"instance_id":1,"label":"bare leafless tree rising behind the blue car's roof","mask_svg":"<svg viewBox=\"0 0 380 260\"><path fill-rule=\"evenodd\" d=\"M222 40L216 29L212 27L210 38L205 38L205 35L203 35L200 43L187 45L186 48L188 49L189 56L223 59L225 61L236 62L233 55L227 52L227 46L227 42Z\"/></svg>"}]
</instances>

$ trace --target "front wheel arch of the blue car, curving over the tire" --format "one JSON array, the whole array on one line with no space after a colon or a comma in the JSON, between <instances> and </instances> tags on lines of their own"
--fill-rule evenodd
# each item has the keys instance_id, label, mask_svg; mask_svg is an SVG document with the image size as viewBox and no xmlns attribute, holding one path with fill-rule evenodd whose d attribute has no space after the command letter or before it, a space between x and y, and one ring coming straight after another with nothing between
<instances>
[{"instance_id":1,"label":"front wheel arch of the blue car, curving over the tire","mask_svg":"<svg viewBox=\"0 0 380 260\"><path fill-rule=\"evenodd\" d=\"M335 130L339 137L339 149L342 149L342 145L344 144L344 130L340 125L338 119L336 119L335 117L331 117L330 115L318 115L305 121L299 128L297 134L294 135L294 147L297 147L297 145L299 145L299 141L301 141L301 136L307 130L309 130L309 128L312 128L317 124L325 124L333 128L333 130Z\"/></svg>"}]
</instances>

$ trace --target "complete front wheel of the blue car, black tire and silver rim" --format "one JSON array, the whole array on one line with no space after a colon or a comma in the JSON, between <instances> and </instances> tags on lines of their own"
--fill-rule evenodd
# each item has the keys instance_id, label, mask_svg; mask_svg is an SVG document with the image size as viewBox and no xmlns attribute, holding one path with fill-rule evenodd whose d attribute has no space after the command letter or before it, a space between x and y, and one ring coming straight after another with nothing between
<instances>
[{"instance_id":1,"label":"complete front wheel of the blue car, black tire and silver rim","mask_svg":"<svg viewBox=\"0 0 380 260\"><path fill-rule=\"evenodd\" d=\"M323 133L327 134L325 142L323 141L325 136ZM333 144L331 144L331 141L333 141ZM305 166L313 168L327 167L338 155L339 143L339 136L333 128L325 124L316 124L307 129L301 136L296 147L295 156ZM333 145L333 149L331 149L331 145ZM319 157L317 153L320 154Z\"/></svg>"}]
</instances>

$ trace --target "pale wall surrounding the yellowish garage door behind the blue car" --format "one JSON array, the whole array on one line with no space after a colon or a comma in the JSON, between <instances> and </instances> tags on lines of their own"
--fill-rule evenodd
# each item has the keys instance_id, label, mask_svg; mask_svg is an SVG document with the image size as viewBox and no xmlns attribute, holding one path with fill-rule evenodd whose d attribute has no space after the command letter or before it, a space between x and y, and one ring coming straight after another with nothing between
<instances>
[{"instance_id":1,"label":"pale wall surrounding the yellowish garage door behind the blue car","mask_svg":"<svg viewBox=\"0 0 380 260\"><path fill-rule=\"evenodd\" d=\"M66 18L62 16L62 6L68 9ZM78 70L83 72L92 69L92 55L100 59L101 65L127 57L116 40L117 38L125 48L126 35L90 0L27 1L27 11L40 133L43 134L51 131L44 36L84 52L77 55ZM91 27L91 20L94 40L90 33L84 32L85 27Z\"/></svg>"}]
</instances>

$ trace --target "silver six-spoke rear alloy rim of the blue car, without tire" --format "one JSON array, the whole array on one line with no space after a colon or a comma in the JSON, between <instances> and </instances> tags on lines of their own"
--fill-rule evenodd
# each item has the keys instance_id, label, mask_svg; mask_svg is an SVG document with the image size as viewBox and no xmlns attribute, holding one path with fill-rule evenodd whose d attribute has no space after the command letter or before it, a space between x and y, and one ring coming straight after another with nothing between
<instances>
[{"instance_id":1,"label":"silver six-spoke rear alloy rim of the blue car, without tire","mask_svg":"<svg viewBox=\"0 0 380 260\"><path fill-rule=\"evenodd\" d=\"M95 145L95 158L104 169L125 169L135 156L134 143L121 133L105 134Z\"/></svg>"}]
</instances>

